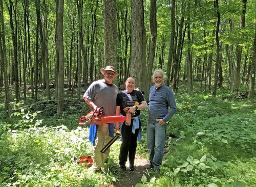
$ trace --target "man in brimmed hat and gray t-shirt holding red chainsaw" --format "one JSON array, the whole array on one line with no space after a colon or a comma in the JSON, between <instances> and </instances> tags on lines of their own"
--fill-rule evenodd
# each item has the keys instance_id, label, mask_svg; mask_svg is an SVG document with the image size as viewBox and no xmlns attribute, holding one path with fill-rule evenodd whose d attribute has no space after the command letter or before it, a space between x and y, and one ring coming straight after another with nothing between
<instances>
[{"instance_id":1,"label":"man in brimmed hat and gray t-shirt holding red chainsaw","mask_svg":"<svg viewBox=\"0 0 256 187\"><path fill-rule=\"evenodd\" d=\"M113 66L101 68L100 72L104 75L103 79L93 82L83 99L91 106L92 111L103 106L104 116L115 116L116 97L119 92L118 87L113 84L114 78L118 75ZM100 170L107 161L110 149L105 153L100 150L114 136L114 124L103 123L101 125L90 125L89 140L93 143L93 165L90 170Z\"/></svg>"}]
</instances>

